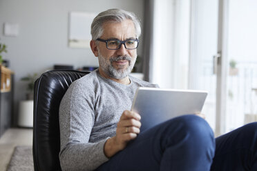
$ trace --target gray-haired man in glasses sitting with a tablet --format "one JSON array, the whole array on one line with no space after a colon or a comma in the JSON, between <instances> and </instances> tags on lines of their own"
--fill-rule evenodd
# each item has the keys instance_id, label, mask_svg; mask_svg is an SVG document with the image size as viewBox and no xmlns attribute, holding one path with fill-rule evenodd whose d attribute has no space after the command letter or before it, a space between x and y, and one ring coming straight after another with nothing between
<instances>
[{"instance_id":1,"label":"gray-haired man in glasses sitting with a tablet","mask_svg":"<svg viewBox=\"0 0 257 171\"><path fill-rule=\"evenodd\" d=\"M257 170L256 123L215 140L202 116L189 114L140 133L140 114L130 111L135 90L157 87L128 76L140 32L131 12L95 17L99 68L75 81L59 108L62 170Z\"/></svg>"}]
</instances>

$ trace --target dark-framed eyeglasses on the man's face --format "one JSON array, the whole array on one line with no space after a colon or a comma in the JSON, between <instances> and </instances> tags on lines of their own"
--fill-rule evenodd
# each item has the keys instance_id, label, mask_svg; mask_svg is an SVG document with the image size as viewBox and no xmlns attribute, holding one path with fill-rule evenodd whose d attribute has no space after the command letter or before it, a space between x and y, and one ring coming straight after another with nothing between
<instances>
[{"instance_id":1,"label":"dark-framed eyeglasses on the man's face","mask_svg":"<svg viewBox=\"0 0 257 171\"><path fill-rule=\"evenodd\" d=\"M120 41L117 39L96 39L97 41L102 41L106 43L106 48L110 50L120 49L122 44L124 44L125 48L128 50L136 49L139 43L138 39L128 39L126 41Z\"/></svg>"}]
</instances>

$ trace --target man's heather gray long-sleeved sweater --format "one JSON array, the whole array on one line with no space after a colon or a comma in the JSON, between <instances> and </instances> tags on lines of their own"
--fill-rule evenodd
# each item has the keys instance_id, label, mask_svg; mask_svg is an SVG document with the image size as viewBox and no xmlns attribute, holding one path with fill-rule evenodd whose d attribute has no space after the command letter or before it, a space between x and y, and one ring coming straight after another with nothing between
<instances>
[{"instance_id":1,"label":"man's heather gray long-sleeved sweater","mask_svg":"<svg viewBox=\"0 0 257 171\"><path fill-rule=\"evenodd\" d=\"M62 170L95 170L108 161L104 143L115 136L124 110L131 110L138 87L157 87L129 77L123 85L104 79L98 70L70 85L59 107Z\"/></svg>"}]
</instances>

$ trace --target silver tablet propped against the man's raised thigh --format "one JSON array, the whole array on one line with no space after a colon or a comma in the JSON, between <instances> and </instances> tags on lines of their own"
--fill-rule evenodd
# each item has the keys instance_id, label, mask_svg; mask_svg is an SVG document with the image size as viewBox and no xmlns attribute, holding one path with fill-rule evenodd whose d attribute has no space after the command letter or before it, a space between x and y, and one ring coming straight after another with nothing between
<instances>
[{"instance_id":1,"label":"silver tablet propped against the man's raised thigh","mask_svg":"<svg viewBox=\"0 0 257 171\"><path fill-rule=\"evenodd\" d=\"M141 115L144 131L182 114L201 112L206 91L161 88L137 88L131 110Z\"/></svg>"}]
</instances>

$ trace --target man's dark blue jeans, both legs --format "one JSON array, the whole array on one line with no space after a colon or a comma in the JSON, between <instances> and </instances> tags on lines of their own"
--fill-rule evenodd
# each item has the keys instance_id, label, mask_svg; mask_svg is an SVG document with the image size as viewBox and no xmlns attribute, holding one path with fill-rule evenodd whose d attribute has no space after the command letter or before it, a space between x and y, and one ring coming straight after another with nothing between
<instances>
[{"instance_id":1,"label":"man's dark blue jeans, both legs","mask_svg":"<svg viewBox=\"0 0 257 171\"><path fill-rule=\"evenodd\" d=\"M97 171L257 170L257 124L214 139L209 124L193 114L141 132Z\"/></svg>"}]
</instances>

